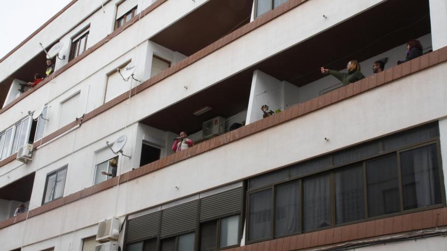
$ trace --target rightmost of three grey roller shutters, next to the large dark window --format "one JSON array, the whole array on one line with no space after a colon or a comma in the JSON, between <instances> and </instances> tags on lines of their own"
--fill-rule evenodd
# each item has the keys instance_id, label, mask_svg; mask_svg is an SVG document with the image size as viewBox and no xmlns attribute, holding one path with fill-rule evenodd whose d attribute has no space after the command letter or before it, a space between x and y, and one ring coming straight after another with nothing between
<instances>
[{"instance_id":1,"label":"rightmost of three grey roller shutters, next to the large dark window","mask_svg":"<svg viewBox=\"0 0 447 251\"><path fill-rule=\"evenodd\" d=\"M238 213L242 208L242 188L205 197L200 201L200 221Z\"/></svg>"}]
</instances>

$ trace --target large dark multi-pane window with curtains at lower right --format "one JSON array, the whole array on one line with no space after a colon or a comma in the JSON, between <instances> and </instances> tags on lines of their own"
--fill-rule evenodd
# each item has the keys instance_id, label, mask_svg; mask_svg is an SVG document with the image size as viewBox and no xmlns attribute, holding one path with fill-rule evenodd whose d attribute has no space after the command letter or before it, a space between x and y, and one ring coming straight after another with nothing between
<instances>
[{"instance_id":1,"label":"large dark multi-pane window with curtains at lower right","mask_svg":"<svg viewBox=\"0 0 447 251\"><path fill-rule=\"evenodd\" d=\"M440 207L441 175L435 123L250 178L247 243Z\"/></svg>"}]
</instances>

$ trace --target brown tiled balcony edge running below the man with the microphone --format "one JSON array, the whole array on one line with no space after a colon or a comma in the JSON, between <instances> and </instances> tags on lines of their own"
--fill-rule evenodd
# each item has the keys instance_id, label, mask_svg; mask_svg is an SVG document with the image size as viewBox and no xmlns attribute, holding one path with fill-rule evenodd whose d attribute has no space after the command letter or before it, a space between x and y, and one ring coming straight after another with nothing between
<instances>
[{"instance_id":1,"label":"brown tiled balcony edge running below the man with the microphone","mask_svg":"<svg viewBox=\"0 0 447 251\"><path fill-rule=\"evenodd\" d=\"M229 143L231 143L235 140L238 140L240 138L249 136L249 135L254 134L261 130L268 129L268 128L273 127L273 126L280 124L282 122L289 121L289 120L295 119L297 117L303 116L307 113L321 109L321 108L331 105L333 103L342 101L342 100L347 99L351 96L360 94L362 92L366 92L373 88L378 88L381 85L387 84L387 83L397 80L399 78L403 78L409 74L415 73L417 71L421 71L427 67L436 65L436 64L444 62L444 61L447 61L447 47L443 47L442 49L433 51L433 52L423 55L419 58L405 62L401 65L391 67L391 68L387 69L386 71L382 71L379 74L372 75L372 76L370 76L366 79L363 79L361 81L349 84L347 86L343 86L341 88L338 88L336 90L328 92L323 96L313 98L313 99L306 101L304 103L299 103L299 104L293 105L293 106L289 107L289 109L287 109L281 113L275 114L271 117L253 122L248 125L245 125L245 126L240 127L236 130L233 130L231 132L228 132L228 133L222 134L220 136L217 136L215 138L212 138L210 140L204 141L192 148L188 148L187 150L169 155L163 159L149 163L149 164L144 165L144 166L137 168L135 170L125 172L125 173L123 173L117 177L111 178L110 180L105 181L103 183L94 185L92 187L86 188L84 190L78 191L76 193L67 195L60 199L57 199L55 201L52 201L50 203L47 203L40 207L37 207L37 208L29 211L28 218L37 216L38 214L55 209L59 206L74 202L76 200L85 198L85 197L90 196L95 193L101 192L105 189L112 188L112 187L116 186L118 183L122 184L122 183L128 182L130 180L133 180L134 178L146 175L148 173L151 173L151 172L156 171L161 168L165 168L171 164L180 162L184 159L187 159L187 158L202 154L204 152L207 152L209 150L212 150L214 148L229 144ZM60 128L59 130L61 130L63 133L66 130L69 130L70 128L78 125L79 123L80 122L74 121L73 123L66 126L68 129L63 127L63 128ZM45 137L44 141L46 142L48 140L51 140L55 136L57 136L58 131L54 132L53 133L54 135L53 134L48 135L47 137L51 137L49 139L47 139L47 137ZM13 156L10 156L7 159L1 161L0 164L4 165L6 163L6 161L8 161L8 162L13 161L15 159ZM5 163L3 163L3 162L5 162ZM20 214L19 216L15 217L15 218L11 218L11 219L5 220L3 222L0 222L0 229L10 226L16 222L23 221L25 219L26 219L26 214Z\"/></svg>"}]
</instances>

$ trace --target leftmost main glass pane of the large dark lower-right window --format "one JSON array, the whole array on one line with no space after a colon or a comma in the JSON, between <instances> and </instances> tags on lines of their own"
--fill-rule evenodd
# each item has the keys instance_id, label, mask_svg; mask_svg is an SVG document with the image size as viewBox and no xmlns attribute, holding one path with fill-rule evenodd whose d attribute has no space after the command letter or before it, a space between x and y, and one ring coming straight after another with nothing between
<instances>
[{"instance_id":1,"label":"leftmost main glass pane of the large dark lower-right window","mask_svg":"<svg viewBox=\"0 0 447 251\"><path fill-rule=\"evenodd\" d=\"M250 194L248 239L257 240L272 236L272 190Z\"/></svg>"}]
</instances>

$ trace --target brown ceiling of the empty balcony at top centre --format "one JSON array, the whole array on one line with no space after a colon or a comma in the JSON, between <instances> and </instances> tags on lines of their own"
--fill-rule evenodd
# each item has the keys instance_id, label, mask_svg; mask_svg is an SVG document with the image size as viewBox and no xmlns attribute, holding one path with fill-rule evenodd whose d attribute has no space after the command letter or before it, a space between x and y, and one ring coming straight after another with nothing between
<instances>
[{"instance_id":1,"label":"brown ceiling of the empty balcony at top centre","mask_svg":"<svg viewBox=\"0 0 447 251\"><path fill-rule=\"evenodd\" d=\"M150 41L186 56L250 22L253 0L210 0Z\"/></svg>"}]
</instances>

